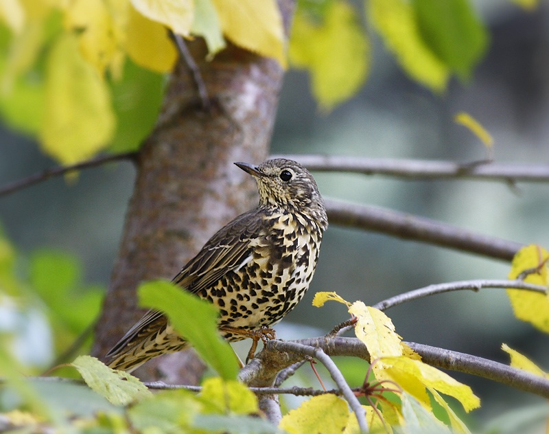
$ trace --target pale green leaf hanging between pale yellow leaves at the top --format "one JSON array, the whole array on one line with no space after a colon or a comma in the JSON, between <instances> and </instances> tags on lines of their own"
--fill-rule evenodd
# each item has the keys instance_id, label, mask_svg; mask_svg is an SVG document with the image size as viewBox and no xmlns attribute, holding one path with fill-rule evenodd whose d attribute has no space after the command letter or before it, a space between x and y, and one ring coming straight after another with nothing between
<instances>
[{"instance_id":1,"label":"pale green leaf hanging between pale yellow leaves at the top","mask_svg":"<svg viewBox=\"0 0 549 434\"><path fill-rule=\"evenodd\" d=\"M209 57L213 57L215 53L226 46L218 12L211 0L196 0L194 2L194 21L191 33L205 39Z\"/></svg>"}]
</instances>

